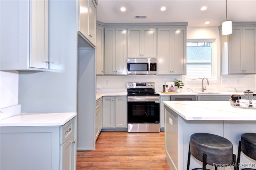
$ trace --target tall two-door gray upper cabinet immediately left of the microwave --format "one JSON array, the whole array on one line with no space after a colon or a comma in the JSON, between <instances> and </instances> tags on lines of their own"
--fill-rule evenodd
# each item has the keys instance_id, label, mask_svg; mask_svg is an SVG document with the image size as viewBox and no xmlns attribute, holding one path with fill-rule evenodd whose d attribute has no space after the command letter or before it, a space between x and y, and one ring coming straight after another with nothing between
<instances>
[{"instance_id":1,"label":"tall two-door gray upper cabinet immediately left of the microwave","mask_svg":"<svg viewBox=\"0 0 256 170\"><path fill-rule=\"evenodd\" d=\"M105 28L104 74L127 74L126 28Z\"/></svg>"}]
</instances>

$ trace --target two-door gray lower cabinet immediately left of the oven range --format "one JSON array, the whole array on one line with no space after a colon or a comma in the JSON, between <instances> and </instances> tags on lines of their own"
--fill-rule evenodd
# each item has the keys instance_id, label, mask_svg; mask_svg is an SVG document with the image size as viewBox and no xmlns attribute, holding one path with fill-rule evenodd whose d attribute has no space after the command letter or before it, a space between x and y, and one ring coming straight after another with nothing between
<instances>
[{"instance_id":1,"label":"two-door gray lower cabinet immediately left of the oven range","mask_svg":"<svg viewBox=\"0 0 256 170\"><path fill-rule=\"evenodd\" d=\"M104 96L102 128L127 128L127 96Z\"/></svg>"}]
</instances>

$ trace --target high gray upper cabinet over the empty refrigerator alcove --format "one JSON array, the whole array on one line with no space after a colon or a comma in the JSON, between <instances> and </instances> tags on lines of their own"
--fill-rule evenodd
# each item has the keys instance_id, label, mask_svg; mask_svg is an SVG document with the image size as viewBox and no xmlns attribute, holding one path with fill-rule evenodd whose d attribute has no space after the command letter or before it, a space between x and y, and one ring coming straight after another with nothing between
<instances>
[{"instance_id":1,"label":"high gray upper cabinet over the empty refrigerator alcove","mask_svg":"<svg viewBox=\"0 0 256 170\"><path fill-rule=\"evenodd\" d=\"M94 0L78 1L78 34L96 45L96 4Z\"/></svg>"}]
</instances>

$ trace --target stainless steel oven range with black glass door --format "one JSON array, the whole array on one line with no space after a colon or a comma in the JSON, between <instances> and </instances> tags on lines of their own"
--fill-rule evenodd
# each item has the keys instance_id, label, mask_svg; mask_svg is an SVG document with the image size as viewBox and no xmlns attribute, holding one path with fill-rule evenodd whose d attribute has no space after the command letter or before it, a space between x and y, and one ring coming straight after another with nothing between
<instances>
[{"instance_id":1,"label":"stainless steel oven range with black glass door","mask_svg":"<svg viewBox=\"0 0 256 170\"><path fill-rule=\"evenodd\" d=\"M128 133L160 132L160 96L154 82L127 83Z\"/></svg>"}]
</instances>

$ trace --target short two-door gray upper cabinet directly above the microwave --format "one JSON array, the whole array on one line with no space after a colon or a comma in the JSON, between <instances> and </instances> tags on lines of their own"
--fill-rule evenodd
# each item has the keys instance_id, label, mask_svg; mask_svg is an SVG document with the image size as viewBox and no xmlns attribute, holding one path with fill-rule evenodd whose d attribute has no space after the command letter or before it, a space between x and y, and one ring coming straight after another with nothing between
<instances>
[{"instance_id":1,"label":"short two-door gray upper cabinet directly above the microwave","mask_svg":"<svg viewBox=\"0 0 256 170\"><path fill-rule=\"evenodd\" d=\"M128 28L128 58L156 58L156 28Z\"/></svg>"}]
</instances>

